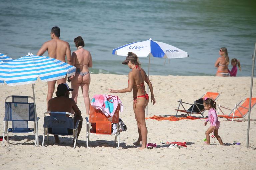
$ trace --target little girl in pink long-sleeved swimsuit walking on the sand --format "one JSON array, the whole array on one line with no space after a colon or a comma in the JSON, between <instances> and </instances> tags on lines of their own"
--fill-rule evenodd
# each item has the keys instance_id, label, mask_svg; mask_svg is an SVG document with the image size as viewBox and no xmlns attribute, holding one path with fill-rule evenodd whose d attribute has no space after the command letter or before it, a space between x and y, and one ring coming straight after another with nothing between
<instances>
[{"instance_id":1,"label":"little girl in pink long-sleeved swimsuit walking on the sand","mask_svg":"<svg viewBox=\"0 0 256 170\"><path fill-rule=\"evenodd\" d=\"M204 122L204 126L207 125L207 122L210 121L211 126L208 128L205 132L206 135L206 143L210 145L210 134L213 132L216 139L220 142L221 145L224 145L224 143L221 140L221 137L218 135L219 127L220 127L220 121L218 121L218 116L216 113L216 102L214 102L212 99L207 98L203 101L204 109L209 110L208 111L208 118Z\"/></svg>"}]
</instances>

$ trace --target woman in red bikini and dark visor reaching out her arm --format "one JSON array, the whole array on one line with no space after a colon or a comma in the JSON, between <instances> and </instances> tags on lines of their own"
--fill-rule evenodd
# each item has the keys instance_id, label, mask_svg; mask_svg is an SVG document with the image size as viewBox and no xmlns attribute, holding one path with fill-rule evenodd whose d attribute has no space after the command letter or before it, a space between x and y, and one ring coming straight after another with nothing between
<instances>
[{"instance_id":1,"label":"woman in red bikini and dark visor reaching out her arm","mask_svg":"<svg viewBox=\"0 0 256 170\"><path fill-rule=\"evenodd\" d=\"M153 93L153 86L148 79L146 72L140 67L140 63L136 54L129 52L126 60L122 64L127 64L132 71L130 71L128 77L128 87L122 90L108 89L110 93L125 93L133 90L133 110L135 113L135 119L138 125L138 140L133 143L134 145L142 146L140 150L146 148L148 130L145 122L145 108L148 105L149 97L145 91L144 81L148 84L151 93L151 102L153 105L156 103Z\"/></svg>"}]
</instances>

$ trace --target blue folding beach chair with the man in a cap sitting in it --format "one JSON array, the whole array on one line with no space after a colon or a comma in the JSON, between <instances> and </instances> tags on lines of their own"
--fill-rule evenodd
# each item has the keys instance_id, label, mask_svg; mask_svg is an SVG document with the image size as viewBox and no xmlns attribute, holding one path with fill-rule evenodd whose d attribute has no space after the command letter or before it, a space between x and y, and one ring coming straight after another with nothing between
<instances>
[{"instance_id":1,"label":"blue folding beach chair with the man in a cap sitting in it","mask_svg":"<svg viewBox=\"0 0 256 170\"><path fill-rule=\"evenodd\" d=\"M46 116L49 115L49 116ZM71 116L71 117L67 117ZM78 133L78 125L80 120L74 125L74 116L69 112L45 112L44 113L44 136L47 135L47 142L49 143L49 134L62 135L62 136L73 136L75 139L74 148L76 148L76 139Z\"/></svg>"}]
</instances>

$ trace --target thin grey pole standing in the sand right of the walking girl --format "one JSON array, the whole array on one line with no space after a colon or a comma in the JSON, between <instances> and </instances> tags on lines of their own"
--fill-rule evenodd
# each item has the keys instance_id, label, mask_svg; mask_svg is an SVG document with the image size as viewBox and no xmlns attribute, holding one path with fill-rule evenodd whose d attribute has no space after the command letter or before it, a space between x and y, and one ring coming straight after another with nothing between
<instances>
[{"instance_id":1,"label":"thin grey pole standing in the sand right of the walking girl","mask_svg":"<svg viewBox=\"0 0 256 170\"><path fill-rule=\"evenodd\" d=\"M251 89L250 89L249 112L248 112L247 141L246 141L246 147L247 148L249 147L251 102L252 102L252 85L253 85L253 74L254 74L254 64L255 64L255 53L256 53L256 42L255 42L255 47L254 47L254 55L252 56L252 77L251 77Z\"/></svg>"}]
</instances>

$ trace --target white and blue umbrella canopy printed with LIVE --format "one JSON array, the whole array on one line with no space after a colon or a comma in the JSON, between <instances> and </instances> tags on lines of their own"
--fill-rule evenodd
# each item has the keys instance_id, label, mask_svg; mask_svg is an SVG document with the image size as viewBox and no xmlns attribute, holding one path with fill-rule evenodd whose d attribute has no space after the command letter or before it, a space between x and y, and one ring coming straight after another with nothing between
<instances>
[{"instance_id":1,"label":"white and blue umbrella canopy printed with LIVE","mask_svg":"<svg viewBox=\"0 0 256 170\"><path fill-rule=\"evenodd\" d=\"M113 49L112 54L127 56L128 52L135 53L138 57L146 57L151 54L158 58L185 58L188 53L163 42L154 41L151 38L146 41L133 42Z\"/></svg>"}]
</instances>

